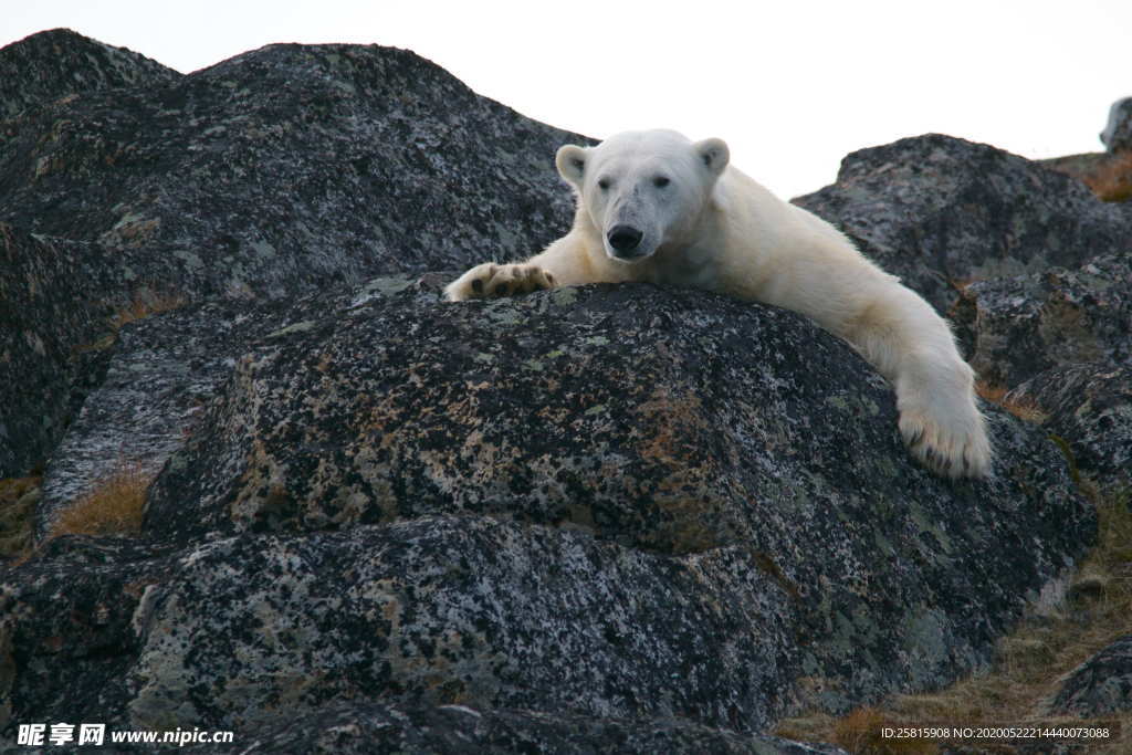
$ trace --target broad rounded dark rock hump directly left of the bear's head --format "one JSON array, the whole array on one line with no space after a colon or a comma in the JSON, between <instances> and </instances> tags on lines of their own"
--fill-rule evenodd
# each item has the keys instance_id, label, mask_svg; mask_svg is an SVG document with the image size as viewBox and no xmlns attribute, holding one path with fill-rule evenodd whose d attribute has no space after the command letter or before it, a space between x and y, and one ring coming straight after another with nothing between
<instances>
[{"instance_id":1,"label":"broad rounded dark rock hump directly left of the bear's head","mask_svg":"<svg viewBox=\"0 0 1132 755\"><path fill-rule=\"evenodd\" d=\"M0 218L142 249L136 275L178 291L272 298L538 248L571 220L555 151L584 140L411 52L333 44L271 45L5 128Z\"/></svg>"}]
</instances>

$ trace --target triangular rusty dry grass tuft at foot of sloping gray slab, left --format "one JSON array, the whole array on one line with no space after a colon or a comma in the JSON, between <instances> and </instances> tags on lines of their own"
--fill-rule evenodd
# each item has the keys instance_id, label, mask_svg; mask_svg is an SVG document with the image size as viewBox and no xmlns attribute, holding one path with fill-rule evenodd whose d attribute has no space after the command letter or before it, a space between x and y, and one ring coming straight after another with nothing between
<instances>
[{"instance_id":1,"label":"triangular rusty dry grass tuft at foot of sloping gray slab, left","mask_svg":"<svg viewBox=\"0 0 1132 755\"><path fill-rule=\"evenodd\" d=\"M145 494L153 478L137 462L120 462L62 513L48 539L63 534L136 535L142 529Z\"/></svg>"}]
</instances>

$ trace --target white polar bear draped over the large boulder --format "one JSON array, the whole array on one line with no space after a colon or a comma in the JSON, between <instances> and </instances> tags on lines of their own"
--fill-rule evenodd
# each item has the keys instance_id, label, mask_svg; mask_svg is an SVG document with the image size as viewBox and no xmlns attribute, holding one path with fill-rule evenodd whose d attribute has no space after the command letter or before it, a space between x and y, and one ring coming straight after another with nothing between
<instances>
[{"instance_id":1,"label":"white polar bear draped over the large boulder","mask_svg":"<svg viewBox=\"0 0 1132 755\"><path fill-rule=\"evenodd\" d=\"M894 384L912 455L949 477L983 477L990 443L974 372L947 324L841 232L728 165L720 139L632 131L566 145L558 172L577 195L574 228L516 265L486 263L445 289L452 301L556 285L650 281L801 312Z\"/></svg>"}]
</instances>

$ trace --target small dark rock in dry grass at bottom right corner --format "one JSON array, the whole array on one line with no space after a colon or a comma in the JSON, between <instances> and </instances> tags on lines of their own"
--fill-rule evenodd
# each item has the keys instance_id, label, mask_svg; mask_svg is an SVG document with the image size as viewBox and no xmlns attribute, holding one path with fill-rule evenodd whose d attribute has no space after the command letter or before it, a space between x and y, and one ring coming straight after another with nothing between
<instances>
[{"instance_id":1,"label":"small dark rock in dry grass at bottom right corner","mask_svg":"<svg viewBox=\"0 0 1132 755\"><path fill-rule=\"evenodd\" d=\"M1132 711L1132 634L1077 667L1057 690L1049 711L1082 718Z\"/></svg>"}]
</instances>

